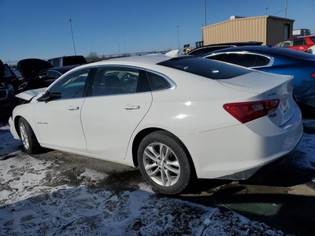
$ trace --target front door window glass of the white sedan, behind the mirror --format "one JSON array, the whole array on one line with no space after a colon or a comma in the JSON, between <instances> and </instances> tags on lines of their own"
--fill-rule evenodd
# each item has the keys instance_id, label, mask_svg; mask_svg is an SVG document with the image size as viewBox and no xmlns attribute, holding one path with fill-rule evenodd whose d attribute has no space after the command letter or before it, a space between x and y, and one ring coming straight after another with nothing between
<instances>
[{"instance_id":1,"label":"front door window glass of the white sedan, behind the mirror","mask_svg":"<svg viewBox=\"0 0 315 236\"><path fill-rule=\"evenodd\" d=\"M62 99L82 97L89 72L90 68L86 68L68 74L50 89L50 93L60 92Z\"/></svg>"}]
</instances>

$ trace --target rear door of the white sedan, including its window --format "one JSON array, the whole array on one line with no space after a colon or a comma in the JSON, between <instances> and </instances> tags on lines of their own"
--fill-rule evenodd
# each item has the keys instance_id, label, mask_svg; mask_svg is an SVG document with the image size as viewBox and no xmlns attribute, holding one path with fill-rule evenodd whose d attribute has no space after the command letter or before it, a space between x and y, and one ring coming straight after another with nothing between
<instances>
[{"instance_id":1,"label":"rear door of the white sedan, including its window","mask_svg":"<svg viewBox=\"0 0 315 236\"><path fill-rule=\"evenodd\" d=\"M124 159L132 132L152 103L146 73L126 66L100 66L85 99L81 120L89 153Z\"/></svg>"}]
</instances>

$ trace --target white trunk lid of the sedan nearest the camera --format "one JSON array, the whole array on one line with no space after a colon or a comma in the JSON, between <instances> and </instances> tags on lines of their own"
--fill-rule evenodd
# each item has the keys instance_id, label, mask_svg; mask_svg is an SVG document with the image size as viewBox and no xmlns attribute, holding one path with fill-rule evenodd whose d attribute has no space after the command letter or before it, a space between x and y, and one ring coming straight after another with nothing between
<instances>
[{"instance_id":1,"label":"white trunk lid of the sedan nearest the camera","mask_svg":"<svg viewBox=\"0 0 315 236\"><path fill-rule=\"evenodd\" d=\"M253 71L242 76L218 80L222 85L246 92L258 93L261 100L279 99L278 109L268 117L276 125L285 124L295 112L292 96L293 76Z\"/></svg>"}]
</instances>

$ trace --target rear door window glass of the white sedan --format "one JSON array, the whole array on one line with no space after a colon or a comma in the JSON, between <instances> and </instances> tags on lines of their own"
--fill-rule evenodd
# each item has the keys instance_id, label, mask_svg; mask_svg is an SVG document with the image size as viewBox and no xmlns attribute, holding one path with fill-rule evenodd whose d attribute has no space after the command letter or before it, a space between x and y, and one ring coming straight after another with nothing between
<instances>
[{"instance_id":1,"label":"rear door window glass of the white sedan","mask_svg":"<svg viewBox=\"0 0 315 236\"><path fill-rule=\"evenodd\" d=\"M128 67L96 67L93 96L150 91L145 71Z\"/></svg>"}]
</instances>

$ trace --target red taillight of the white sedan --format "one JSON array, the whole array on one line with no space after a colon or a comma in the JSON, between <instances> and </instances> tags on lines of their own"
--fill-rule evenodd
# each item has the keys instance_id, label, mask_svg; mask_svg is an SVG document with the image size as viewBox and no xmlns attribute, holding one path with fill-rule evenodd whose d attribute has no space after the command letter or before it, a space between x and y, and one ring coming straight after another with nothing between
<instances>
[{"instance_id":1,"label":"red taillight of the white sedan","mask_svg":"<svg viewBox=\"0 0 315 236\"><path fill-rule=\"evenodd\" d=\"M277 110L280 100L227 103L223 108L241 123L267 116Z\"/></svg>"}]
</instances>

